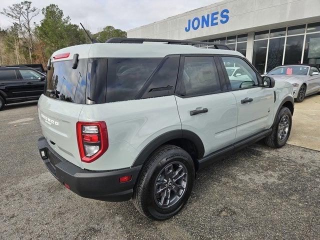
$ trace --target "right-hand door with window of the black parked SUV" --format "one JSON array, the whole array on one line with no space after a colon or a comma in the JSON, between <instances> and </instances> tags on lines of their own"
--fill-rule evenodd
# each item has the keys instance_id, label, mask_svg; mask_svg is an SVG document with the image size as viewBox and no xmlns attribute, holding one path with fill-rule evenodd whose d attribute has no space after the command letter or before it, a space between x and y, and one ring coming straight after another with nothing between
<instances>
[{"instance_id":1,"label":"right-hand door with window of the black parked SUV","mask_svg":"<svg viewBox=\"0 0 320 240\"><path fill-rule=\"evenodd\" d=\"M44 80L41 74L32 69L19 69L19 78L23 80L26 99L37 99L43 93Z\"/></svg>"}]
</instances>

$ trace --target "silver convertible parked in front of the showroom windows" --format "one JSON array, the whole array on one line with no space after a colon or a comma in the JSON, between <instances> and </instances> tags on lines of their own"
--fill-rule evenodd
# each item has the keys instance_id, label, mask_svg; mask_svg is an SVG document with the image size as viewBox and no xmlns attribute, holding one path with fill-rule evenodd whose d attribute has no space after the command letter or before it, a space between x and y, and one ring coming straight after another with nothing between
<instances>
[{"instance_id":1,"label":"silver convertible parked in front of the showroom windows","mask_svg":"<svg viewBox=\"0 0 320 240\"><path fill-rule=\"evenodd\" d=\"M303 101L305 96L320 94L319 68L312 64L293 64L277 66L266 75L272 75L276 81L287 81L293 85L293 98Z\"/></svg>"}]
</instances>

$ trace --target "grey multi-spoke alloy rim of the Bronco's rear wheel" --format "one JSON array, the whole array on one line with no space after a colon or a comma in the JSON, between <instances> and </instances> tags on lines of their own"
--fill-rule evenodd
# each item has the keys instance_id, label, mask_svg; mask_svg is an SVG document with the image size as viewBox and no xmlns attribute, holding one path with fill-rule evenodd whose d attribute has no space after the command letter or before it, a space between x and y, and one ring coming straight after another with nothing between
<instances>
[{"instance_id":1,"label":"grey multi-spoke alloy rim of the Bronco's rear wheel","mask_svg":"<svg viewBox=\"0 0 320 240\"><path fill-rule=\"evenodd\" d=\"M174 205L185 193L187 171L182 162L170 162L158 174L153 189L155 203L161 208Z\"/></svg>"}]
</instances>

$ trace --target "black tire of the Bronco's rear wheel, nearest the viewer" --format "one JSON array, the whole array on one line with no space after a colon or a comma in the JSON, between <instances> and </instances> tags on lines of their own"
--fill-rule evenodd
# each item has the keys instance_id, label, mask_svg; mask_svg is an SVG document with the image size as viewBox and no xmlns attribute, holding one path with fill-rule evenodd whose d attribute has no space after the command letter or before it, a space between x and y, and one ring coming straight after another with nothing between
<instances>
[{"instance_id":1,"label":"black tire of the Bronco's rear wheel, nearest the viewer","mask_svg":"<svg viewBox=\"0 0 320 240\"><path fill-rule=\"evenodd\" d=\"M179 171L180 175L176 175L176 178L182 175L184 179L180 178L174 181L172 177L172 180L165 181L161 175L163 171L165 175L169 174L169 172L171 172L171 176L174 175L172 174L173 171L166 172L166 169L169 169L170 165L172 165L172 170L174 170L175 165L184 167L183 171ZM183 172L186 174L183 174ZM173 173L176 173L176 170ZM175 215L189 198L194 182L194 175L192 158L185 150L174 145L163 145L148 157L146 164L142 167L137 184L133 190L133 203L140 213L150 219L167 219ZM177 187L178 181L182 182L180 184L184 184L184 190ZM168 184L162 185L161 182ZM171 185L169 185L170 182ZM165 188L164 192L158 190L162 193L156 194L157 186L159 189L163 189L161 188L163 186ZM167 192L169 197L166 196ZM181 194L181 196L178 196L175 192ZM158 196L161 199L163 196L163 199L165 199L165 202L162 200L162 206L157 199ZM170 205L170 197L172 197L172 205ZM166 202L168 202L168 205L166 205Z\"/></svg>"}]
</instances>

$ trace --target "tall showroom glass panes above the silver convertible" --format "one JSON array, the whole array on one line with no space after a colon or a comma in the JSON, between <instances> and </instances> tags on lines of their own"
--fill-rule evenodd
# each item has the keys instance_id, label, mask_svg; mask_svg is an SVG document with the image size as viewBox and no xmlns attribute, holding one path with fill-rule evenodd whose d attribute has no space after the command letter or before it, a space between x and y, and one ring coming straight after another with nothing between
<instances>
[{"instance_id":1,"label":"tall showroom glass panes above the silver convertible","mask_svg":"<svg viewBox=\"0 0 320 240\"><path fill-rule=\"evenodd\" d=\"M320 22L254 33L252 64L260 73L294 63L320 65Z\"/></svg>"}]
</instances>

